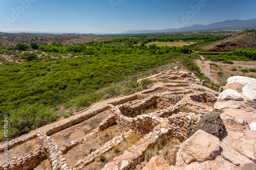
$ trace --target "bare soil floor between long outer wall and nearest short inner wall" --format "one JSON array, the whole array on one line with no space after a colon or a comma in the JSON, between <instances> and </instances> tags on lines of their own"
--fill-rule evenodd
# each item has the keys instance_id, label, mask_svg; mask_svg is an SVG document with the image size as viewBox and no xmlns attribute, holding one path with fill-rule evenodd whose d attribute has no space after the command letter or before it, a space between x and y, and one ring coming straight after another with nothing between
<instances>
[{"instance_id":1,"label":"bare soil floor between long outer wall and nearest short inner wall","mask_svg":"<svg viewBox=\"0 0 256 170\"><path fill-rule=\"evenodd\" d=\"M79 124L73 125L50 136L57 142L59 147L61 147L62 145L71 142L72 140L79 139L86 134L91 133L109 114L110 110L105 110L87 120L84 120Z\"/></svg>"}]
</instances>

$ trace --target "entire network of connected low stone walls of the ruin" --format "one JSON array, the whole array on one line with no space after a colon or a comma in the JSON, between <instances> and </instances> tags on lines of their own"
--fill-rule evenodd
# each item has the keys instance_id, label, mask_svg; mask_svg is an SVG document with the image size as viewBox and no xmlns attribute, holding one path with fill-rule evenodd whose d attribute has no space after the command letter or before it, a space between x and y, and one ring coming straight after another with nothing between
<instances>
[{"instance_id":1,"label":"entire network of connected low stone walls of the ruin","mask_svg":"<svg viewBox=\"0 0 256 170\"><path fill-rule=\"evenodd\" d=\"M187 77L187 75L185 75L185 77ZM216 96L218 95L218 93L209 92L201 88L196 88L191 85L190 81L172 82L175 82L177 84L165 84L164 86L145 90L140 93L131 95L127 98L108 103L107 105L90 113L84 113L80 116L75 116L74 118L66 121L65 123L55 125L53 128L49 128L45 131L35 133L33 135L30 135L29 137L26 137L24 139L18 139L10 143L9 145L12 148L15 147L15 145L17 144L26 142L30 139L37 137L39 147L38 149L31 151L28 154L25 154L23 157L14 157L12 160L10 160L8 167L1 165L0 169L31 169L34 168L37 163L39 163L39 161L46 158L49 159L50 165L53 168L71 169L63 154L65 154L68 150L70 150L83 140L86 140L86 137L73 140L59 148L57 143L53 141L48 135L80 123L83 120L97 115L98 113L107 109L110 109L112 114L106 117L98 125L98 129L96 130L95 134L101 130L108 128L113 124L117 124L120 131L126 134L135 132L143 138L136 142L136 144L134 144L127 151L125 151L123 155L114 158L113 162L106 164L103 169L108 169L108 167L118 167L118 169L120 169L121 166L122 169L135 168L135 166L138 164L138 160L143 157L144 152L148 148L154 147L156 143L165 140L165 138L167 138L168 136L171 135L174 139L179 139L180 141L186 140L186 129L191 126L195 126L200 119L200 115L195 115L194 113L179 113L179 110L182 106L197 106L197 102L202 102L202 99L204 99L205 102L209 103L214 103L216 101ZM176 89L168 88L171 86L189 87L179 87ZM157 90L163 90L165 92L162 92L162 94L149 94ZM123 103L133 100L140 101L121 105ZM138 115L140 111L151 106L157 107L161 110L154 113ZM77 162L77 164L81 165L81 168L84 165L90 164L99 156L99 154L108 152L113 147L115 147L115 145L119 144L121 140L121 136L113 138L108 143L103 145L103 147L97 150L96 153L88 155L83 160ZM0 152L1 149L2 148L0 148ZM129 160L128 163L127 160L122 160L124 157L127 156L127 154L131 155L131 160ZM113 163L115 166L113 166ZM76 168L79 169L79 167Z\"/></svg>"}]
</instances>

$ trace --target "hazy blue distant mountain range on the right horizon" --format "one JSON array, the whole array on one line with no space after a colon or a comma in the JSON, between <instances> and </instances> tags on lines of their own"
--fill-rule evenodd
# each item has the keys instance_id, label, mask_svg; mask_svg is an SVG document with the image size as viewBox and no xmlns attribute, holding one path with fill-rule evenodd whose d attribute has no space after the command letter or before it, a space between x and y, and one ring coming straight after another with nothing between
<instances>
[{"instance_id":1,"label":"hazy blue distant mountain range on the right horizon","mask_svg":"<svg viewBox=\"0 0 256 170\"><path fill-rule=\"evenodd\" d=\"M226 20L223 22L211 23L210 25L194 25L180 29L165 30L129 30L120 34L141 34L141 33L167 33L167 32L184 32L184 31L223 31L223 30L245 30L256 29L256 19L250 20Z\"/></svg>"}]
</instances>

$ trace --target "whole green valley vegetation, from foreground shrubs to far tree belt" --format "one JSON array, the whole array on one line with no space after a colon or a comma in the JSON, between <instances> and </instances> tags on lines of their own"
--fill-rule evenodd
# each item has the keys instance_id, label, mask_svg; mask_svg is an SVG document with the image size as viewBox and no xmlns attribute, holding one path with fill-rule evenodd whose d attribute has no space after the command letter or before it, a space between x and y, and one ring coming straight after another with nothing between
<instances>
[{"instance_id":1,"label":"whole green valley vegetation, from foreground shrubs to far tree belt","mask_svg":"<svg viewBox=\"0 0 256 170\"><path fill-rule=\"evenodd\" d=\"M189 54L189 47L145 45L152 41L215 40L213 36L177 37L127 37L70 46L54 42L0 46L0 54L13 55L20 62L23 59L16 63L0 58L0 114L9 116L9 137L53 122L61 116L56 111L62 104L67 108L88 107L100 99L146 88L152 82L144 79L139 87L137 77L124 86L112 84L167 63L179 62L209 81L193 62L198 55ZM38 57L42 52L44 55ZM102 88L105 89L98 92ZM118 93L121 88L122 93Z\"/></svg>"}]
</instances>

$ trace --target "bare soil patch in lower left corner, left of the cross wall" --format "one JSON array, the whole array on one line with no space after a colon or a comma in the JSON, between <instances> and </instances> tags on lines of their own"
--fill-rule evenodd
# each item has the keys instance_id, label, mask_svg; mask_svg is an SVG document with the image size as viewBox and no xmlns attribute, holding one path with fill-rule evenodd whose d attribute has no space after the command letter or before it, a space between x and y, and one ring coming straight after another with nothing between
<instances>
[{"instance_id":1,"label":"bare soil patch in lower left corner, left of the cross wall","mask_svg":"<svg viewBox=\"0 0 256 170\"><path fill-rule=\"evenodd\" d=\"M12 159L13 157L20 157L24 154L29 153L30 151L34 151L38 148L37 138L29 140L25 143L19 144L16 147L8 150L8 159ZM0 153L0 162L4 162L4 155L6 152Z\"/></svg>"}]
</instances>

